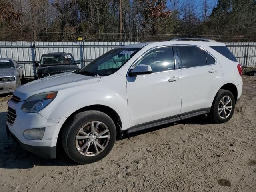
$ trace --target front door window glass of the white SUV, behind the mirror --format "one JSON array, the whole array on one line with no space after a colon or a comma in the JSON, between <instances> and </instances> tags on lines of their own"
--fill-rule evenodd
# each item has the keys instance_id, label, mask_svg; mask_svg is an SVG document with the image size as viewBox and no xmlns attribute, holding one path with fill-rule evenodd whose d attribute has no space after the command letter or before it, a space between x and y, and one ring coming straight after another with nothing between
<instances>
[{"instance_id":1,"label":"front door window glass of the white SUV, behind the mirror","mask_svg":"<svg viewBox=\"0 0 256 192\"><path fill-rule=\"evenodd\" d=\"M151 66L152 73L174 70L174 55L172 47L156 48L146 54L136 65Z\"/></svg>"}]
</instances>

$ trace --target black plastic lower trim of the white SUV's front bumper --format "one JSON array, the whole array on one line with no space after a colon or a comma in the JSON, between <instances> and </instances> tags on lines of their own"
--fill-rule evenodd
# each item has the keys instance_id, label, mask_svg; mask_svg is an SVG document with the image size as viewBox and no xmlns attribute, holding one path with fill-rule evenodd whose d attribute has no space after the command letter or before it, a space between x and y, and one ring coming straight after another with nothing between
<instances>
[{"instance_id":1,"label":"black plastic lower trim of the white SUV's front bumper","mask_svg":"<svg viewBox=\"0 0 256 192\"><path fill-rule=\"evenodd\" d=\"M6 133L7 136L11 136L15 142L18 143L21 148L23 148L26 151L32 152L40 157L46 158L46 159L54 159L56 158L56 146L55 147L47 147L47 146L32 146L32 145L26 145L18 138L10 132L8 126L6 125Z\"/></svg>"}]
</instances>

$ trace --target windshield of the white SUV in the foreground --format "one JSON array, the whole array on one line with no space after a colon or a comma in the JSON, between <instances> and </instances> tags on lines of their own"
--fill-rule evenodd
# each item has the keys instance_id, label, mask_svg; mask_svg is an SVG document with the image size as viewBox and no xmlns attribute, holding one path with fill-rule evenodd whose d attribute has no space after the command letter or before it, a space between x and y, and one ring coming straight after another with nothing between
<instances>
[{"instance_id":1,"label":"windshield of the white SUV in the foreground","mask_svg":"<svg viewBox=\"0 0 256 192\"><path fill-rule=\"evenodd\" d=\"M141 48L117 48L98 57L84 68L76 71L88 76L107 76L120 69Z\"/></svg>"}]
</instances>

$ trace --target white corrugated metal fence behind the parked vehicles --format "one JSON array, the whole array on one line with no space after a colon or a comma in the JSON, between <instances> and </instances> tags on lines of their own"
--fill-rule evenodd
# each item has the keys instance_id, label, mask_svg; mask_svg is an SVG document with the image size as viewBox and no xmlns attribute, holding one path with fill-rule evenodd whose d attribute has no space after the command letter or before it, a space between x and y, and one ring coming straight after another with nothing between
<instances>
[{"instance_id":1,"label":"white corrugated metal fence behind the parked vehicles","mask_svg":"<svg viewBox=\"0 0 256 192\"><path fill-rule=\"evenodd\" d=\"M36 76L35 61L42 54L50 52L68 52L76 60L81 60L82 68L102 54L121 45L137 42L4 42L0 41L0 57L14 58L24 66L25 76ZM256 66L256 43L235 42L226 43L230 51L243 66Z\"/></svg>"}]
</instances>

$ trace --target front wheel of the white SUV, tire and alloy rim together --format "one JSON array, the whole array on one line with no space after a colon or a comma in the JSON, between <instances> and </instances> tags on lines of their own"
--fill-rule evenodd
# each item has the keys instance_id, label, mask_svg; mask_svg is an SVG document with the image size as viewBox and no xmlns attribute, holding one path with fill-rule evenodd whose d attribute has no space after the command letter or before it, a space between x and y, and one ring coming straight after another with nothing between
<instances>
[{"instance_id":1,"label":"front wheel of the white SUV, tire and alloy rim together","mask_svg":"<svg viewBox=\"0 0 256 192\"><path fill-rule=\"evenodd\" d=\"M68 120L62 134L66 154L79 164L96 162L107 156L116 141L116 126L105 113L91 110Z\"/></svg>"}]
</instances>

